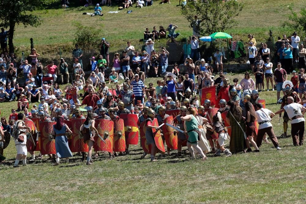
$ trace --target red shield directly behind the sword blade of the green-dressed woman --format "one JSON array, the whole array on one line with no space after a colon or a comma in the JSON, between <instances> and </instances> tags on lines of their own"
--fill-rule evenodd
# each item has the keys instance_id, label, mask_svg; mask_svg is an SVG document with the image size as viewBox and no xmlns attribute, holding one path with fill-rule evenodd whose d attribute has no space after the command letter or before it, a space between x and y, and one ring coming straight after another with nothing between
<instances>
[{"instance_id":1,"label":"red shield directly behind the sword blade of the green-dressed woman","mask_svg":"<svg viewBox=\"0 0 306 204\"><path fill-rule=\"evenodd\" d=\"M173 124L173 117L166 117L163 123L165 124L162 126L162 132L164 134L167 147L170 147L170 149L173 150L177 150L177 135L174 135L173 128L166 125L166 123Z\"/></svg>"}]
</instances>

